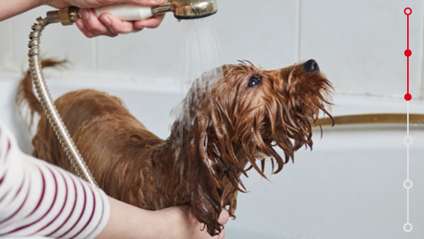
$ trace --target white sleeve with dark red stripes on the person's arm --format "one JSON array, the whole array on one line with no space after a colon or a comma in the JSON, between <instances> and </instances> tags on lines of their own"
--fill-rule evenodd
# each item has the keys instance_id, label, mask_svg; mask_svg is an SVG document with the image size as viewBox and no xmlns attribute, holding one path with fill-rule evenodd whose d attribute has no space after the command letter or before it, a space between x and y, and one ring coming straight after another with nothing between
<instances>
[{"instance_id":1,"label":"white sleeve with dark red stripes on the person's arm","mask_svg":"<svg viewBox=\"0 0 424 239\"><path fill-rule=\"evenodd\" d=\"M94 238L109 209L100 189L21 152L0 122L0 237Z\"/></svg>"}]
</instances>

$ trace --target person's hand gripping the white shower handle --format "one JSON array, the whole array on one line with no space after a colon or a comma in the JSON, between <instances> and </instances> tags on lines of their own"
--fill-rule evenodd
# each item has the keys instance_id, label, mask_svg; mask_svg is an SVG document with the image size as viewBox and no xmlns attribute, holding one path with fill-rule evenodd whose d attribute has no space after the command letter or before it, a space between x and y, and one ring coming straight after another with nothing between
<instances>
[{"instance_id":1,"label":"person's hand gripping the white shower handle","mask_svg":"<svg viewBox=\"0 0 424 239\"><path fill-rule=\"evenodd\" d=\"M42 5L49 5L56 8L67 6L80 7L81 19L75 22L81 32L88 38L95 36L116 37L119 34L141 31L143 28L156 28L164 18L164 14L152 16L144 20L125 21L109 13L102 13L97 16L93 10L95 7L116 4L130 3L141 6L157 6L165 0L40 0Z\"/></svg>"}]
</instances>

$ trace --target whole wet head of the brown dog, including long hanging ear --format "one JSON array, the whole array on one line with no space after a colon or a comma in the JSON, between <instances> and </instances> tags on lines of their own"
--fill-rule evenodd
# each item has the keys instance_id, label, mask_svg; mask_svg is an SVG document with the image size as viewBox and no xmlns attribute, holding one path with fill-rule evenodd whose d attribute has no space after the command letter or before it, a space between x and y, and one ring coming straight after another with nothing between
<instances>
[{"instance_id":1,"label":"whole wet head of the brown dog, including long hanging ear","mask_svg":"<svg viewBox=\"0 0 424 239\"><path fill-rule=\"evenodd\" d=\"M331 92L330 82L312 59L272 71L248 61L225 65L220 79L212 84L196 82L184 101L185 121L190 123L183 137L189 142L183 140L181 155L202 162L199 172L210 177L205 187L214 191L211 198L225 201L223 185L230 182L241 190L239 176L250 168L266 177L265 160L258 159L271 158L273 172L278 173L297 149L312 148L312 126L320 112L330 116L326 107ZM215 183L206 183L210 181Z\"/></svg>"}]
</instances>

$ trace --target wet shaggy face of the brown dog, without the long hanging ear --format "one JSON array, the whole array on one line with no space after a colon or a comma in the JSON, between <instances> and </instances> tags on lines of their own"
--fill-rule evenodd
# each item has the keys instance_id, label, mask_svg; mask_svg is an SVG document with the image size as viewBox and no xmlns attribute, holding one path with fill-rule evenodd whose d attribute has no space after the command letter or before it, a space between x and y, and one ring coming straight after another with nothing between
<instances>
[{"instance_id":1,"label":"wet shaggy face of the brown dog, without the long hanging ear","mask_svg":"<svg viewBox=\"0 0 424 239\"><path fill-rule=\"evenodd\" d=\"M208 145L218 149L208 154L212 164L245 173L242 160L247 159L263 175L264 161L261 169L256 161L270 157L278 173L302 145L312 148L312 125L320 111L330 116L326 106L332 91L315 60L273 71L250 62L223 69L202 114L209 120ZM274 146L283 149L284 159Z\"/></svg>"}]
</instances>

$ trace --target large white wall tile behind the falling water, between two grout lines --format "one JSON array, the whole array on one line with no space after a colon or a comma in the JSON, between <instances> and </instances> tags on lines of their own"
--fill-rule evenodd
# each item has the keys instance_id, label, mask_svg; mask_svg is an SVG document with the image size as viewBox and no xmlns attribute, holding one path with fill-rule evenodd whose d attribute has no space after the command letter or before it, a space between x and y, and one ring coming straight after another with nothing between
<instances>
[{"instance_id":1,"label":"large white wall tile behind the falling water, between two grout lines","mask_svg":"<svg viewBox=\"0 0 424 239\"><path fill-rule=\"evenodd\" d=\"M219 1L219 12L211 16L224 52L223 63L249 59L278 68L294 59L295 1ZM267 14L273 15L270 21ZM245 16L245 17L243 17ZM98 40L99 70L123 70L154 78L173 78L181 70L183 23L168 14L161 27L119 38ZM179 75L178 75L179 76Z\"/></svg>"}]
</instances>

